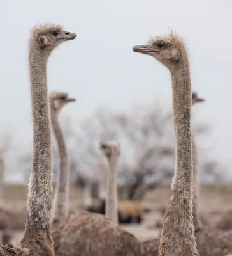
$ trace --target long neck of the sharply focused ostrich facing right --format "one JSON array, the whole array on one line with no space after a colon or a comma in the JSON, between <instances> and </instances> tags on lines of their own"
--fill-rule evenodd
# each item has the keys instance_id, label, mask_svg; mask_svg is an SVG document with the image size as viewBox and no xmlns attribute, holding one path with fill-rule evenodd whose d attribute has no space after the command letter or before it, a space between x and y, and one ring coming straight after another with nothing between
<instances>
[{"instance_id":1,"label":"long neck of the sharply focused ostrich facing right","mask_svg":"<svg viewBox=\"0 0 232 256\"><path fill-rule=\"evenodd\" d=\"M29 180L25 230L50 228L52 209L52 145L47 92L48 56L31 45L29 70L33 109L33 168Z\"/></svg>"}]
</instances>

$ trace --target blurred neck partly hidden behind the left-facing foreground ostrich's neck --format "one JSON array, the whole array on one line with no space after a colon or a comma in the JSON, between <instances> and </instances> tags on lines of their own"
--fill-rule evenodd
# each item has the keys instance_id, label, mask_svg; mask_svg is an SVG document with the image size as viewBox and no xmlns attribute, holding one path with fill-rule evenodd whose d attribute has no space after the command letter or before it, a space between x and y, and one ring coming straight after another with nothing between
<instances>
[{"instance_id":1,"label":"blurred neck partly hidden behind the left-facing foreground ostrich's neck","mask_svg":"<svg viewBox=\"0 0 232 256\"><path fill-rule=\"evenodd\" d=\"M201 227L201 218L199 215L199 190L200 190L200 172L198 162L198 148L192 134L192 162L193 162L193 223L194 227Z\"/></svg>"}]
</instances>

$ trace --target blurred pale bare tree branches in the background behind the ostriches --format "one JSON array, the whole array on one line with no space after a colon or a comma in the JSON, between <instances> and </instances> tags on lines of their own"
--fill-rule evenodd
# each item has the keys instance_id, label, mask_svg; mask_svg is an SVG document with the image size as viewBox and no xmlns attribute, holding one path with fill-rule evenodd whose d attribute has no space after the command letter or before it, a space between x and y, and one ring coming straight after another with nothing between
<instances>
[{"instance_id":1,"label":"blurred pale bare tree branches in the background behind the ostriches","mask_svg":"<svg viewBox=\"0 0 232 256\"><path fill-rule=\"evenodd\" d=\"M175 168L175 144L169 109L159 102L135 104L133 108L123 111L99 108L82 121L71 118L62 120L69 147L71 181L82 178L88 172L92 173L94 182L103 182L104 163L99 143L102 140L117 140L121 148L119 182L126 182L127 198L142 198L150 185L154 188L160 182L170 182ZM194 136L199 141L203 181L223 180L224 172L221 170L225 171L228 166L223 165L222 160L215 161L214 154L211 154L212 145L205 143L210 141L209 125L199 121L196 115L193 115L192 124ZM55 148L54 170L57 170L59 159ZM20 161L28 162L29 159L31 155L24 154ZM84 179L79 181L82 184Z\"/></svg>"}]
</instances>

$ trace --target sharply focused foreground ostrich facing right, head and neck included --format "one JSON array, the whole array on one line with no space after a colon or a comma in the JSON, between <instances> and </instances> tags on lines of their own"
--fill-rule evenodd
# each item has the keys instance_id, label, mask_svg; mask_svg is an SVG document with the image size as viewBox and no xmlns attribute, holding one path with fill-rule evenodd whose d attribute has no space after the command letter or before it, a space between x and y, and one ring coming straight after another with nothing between
<instances>
[{"instance_id":1,"label":"sharply focused foreground ostrich facing right, head and neck included","mask_svg":"<svg viewBox=\"0 0 232 256\"><path fill-rule=\"evenodd\" d=\"M29 73L33 111L33 166L29 179L27 220L18 246L1 246L1 256L54 255L50 236L52 209L52 145L47 93L47 61L53 49L76 34L45 24L31 31Z\"/></svg>"}]
</instances>

